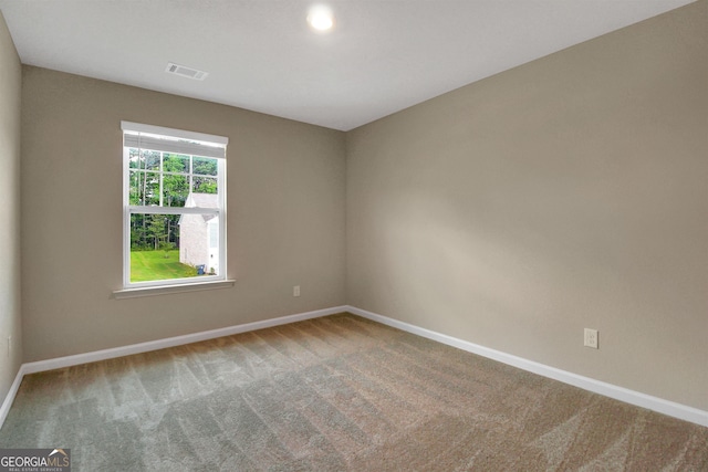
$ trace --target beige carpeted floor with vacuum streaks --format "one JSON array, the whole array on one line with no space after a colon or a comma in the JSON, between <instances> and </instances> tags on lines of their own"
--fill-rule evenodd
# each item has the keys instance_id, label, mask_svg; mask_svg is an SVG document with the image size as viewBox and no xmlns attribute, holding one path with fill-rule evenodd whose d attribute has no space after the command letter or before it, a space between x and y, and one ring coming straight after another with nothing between
<instances>
[{"instance_id":1,"label":"beige carpeted floor with vacuum streaks","mask_svg":"<svg viewBox=\"0 0 708 472\"><path fill-rule=\"evenodd\" d=\"M708 428L341 314L27 376L74 471L708 471Z\"/></svg>"}]
</instances>

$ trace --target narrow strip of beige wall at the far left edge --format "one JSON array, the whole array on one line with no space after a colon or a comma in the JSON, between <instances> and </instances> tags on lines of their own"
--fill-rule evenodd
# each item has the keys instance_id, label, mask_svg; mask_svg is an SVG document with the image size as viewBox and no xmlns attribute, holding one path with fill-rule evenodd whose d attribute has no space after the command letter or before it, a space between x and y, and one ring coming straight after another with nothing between
<instances>
[{"instance_id":1,"label":"narrow strip of beige wall at the far left edge","mask_svg":"<svg viewBox=\"0 0 708 472\"><path fill-rule=\"evenodd\" d=\"M20 317L21 65L0 12L0 403L22 361ZM8 336L12 337L8 353Z\"/></svg>"}]
</instances>

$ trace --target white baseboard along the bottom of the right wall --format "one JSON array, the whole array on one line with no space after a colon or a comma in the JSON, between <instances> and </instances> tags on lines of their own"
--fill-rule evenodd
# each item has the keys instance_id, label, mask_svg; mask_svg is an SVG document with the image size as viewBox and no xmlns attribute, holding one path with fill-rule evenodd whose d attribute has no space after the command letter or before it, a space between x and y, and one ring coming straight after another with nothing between
<instances>
[{"instance_id":1,"label":"white baseboard along the bottom of the right wall","mask_svg":"<svg viewBox=\"0 0 708 472\"><path fill-rule=\"evenodd\" d=\"M436 333L434 331L421 328L408 323L399 322L397 319L367 312L355 306L345 306L345 308L347 312L362 316L364 318L368 318L374 322L378 322L384 325L392 326L418 336L427 337L428 339L437 340L438 343L447 344L448 346L457 347L458 349L467 350L482 357L508 364L522 370L528 370L543 377L552 378L564 384L570 384L584 390L624 401L625 403L631 403L663 415L667 415L669 417L708 427L708 411L699 410L686 405L676 403L663 398L629 390L627 388L595 380L590 377L583 377L577 374L569 373L566 370L556 369L555 367L550 367L540 363L535 363L533 360L528 360L522 357L502 353L500 350L490 349L478 344L469 343L467 340L458 339L452 336Z\"/></svg>"}]
</instances>

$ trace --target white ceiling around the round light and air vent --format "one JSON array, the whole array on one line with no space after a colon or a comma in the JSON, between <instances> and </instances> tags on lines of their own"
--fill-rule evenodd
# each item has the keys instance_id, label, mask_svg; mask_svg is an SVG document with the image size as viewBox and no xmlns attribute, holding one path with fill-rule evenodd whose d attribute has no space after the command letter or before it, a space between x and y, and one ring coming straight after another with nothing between
<instances>
[{"instance_id":1,"label":"white ceiling around the round light and air vent","mask_svg":"<svg viewBox=\"0 0 708 472\"><path fill-rule=\"evenodd\" d=\"M348 130L693 0L0 0L24 64ZM165 73L168 62L207 71Z\"/></svg>"}]
</instances>

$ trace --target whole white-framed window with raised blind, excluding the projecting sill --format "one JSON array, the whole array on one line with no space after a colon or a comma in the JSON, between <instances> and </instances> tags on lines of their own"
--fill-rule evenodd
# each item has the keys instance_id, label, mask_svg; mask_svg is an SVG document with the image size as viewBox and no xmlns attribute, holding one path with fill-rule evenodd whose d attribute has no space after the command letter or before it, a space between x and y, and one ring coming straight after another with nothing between
<instances>
[{"instance_id":1,"label":"whole white-framed window with raised blind, excluding the projecting sill","mask_svg":"<svg viewBox=\"0 0 708 472\"><path fill-rule=\"evenodd\" d=\"M225 281L228 139L121 126L124 287Z\"/></svg>"}]
</instances>

